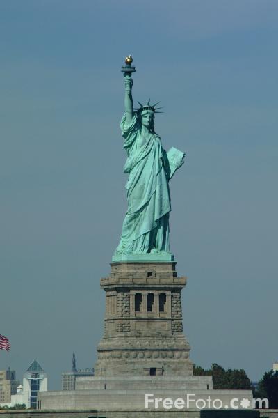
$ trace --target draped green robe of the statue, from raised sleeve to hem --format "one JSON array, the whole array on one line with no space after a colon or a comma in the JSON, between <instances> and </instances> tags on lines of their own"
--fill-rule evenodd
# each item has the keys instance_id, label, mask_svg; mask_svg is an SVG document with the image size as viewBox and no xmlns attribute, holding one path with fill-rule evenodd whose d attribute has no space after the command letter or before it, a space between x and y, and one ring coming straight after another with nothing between
<instances>
[{"instance_id":1,"label":"draped green robe of the statue, from raised sleeve to hem","mask_svg":"<svg viewBox=\"0 0 278 418\"><path fill-rule=\"evenodd\" d=\"M161 139L150 132L144 136L137 115L127 124L124 114L121 129L127 153L124 173L129 174L128 209L115 254L169 252L169 164Z\"/></svg>"}]
</instances>

